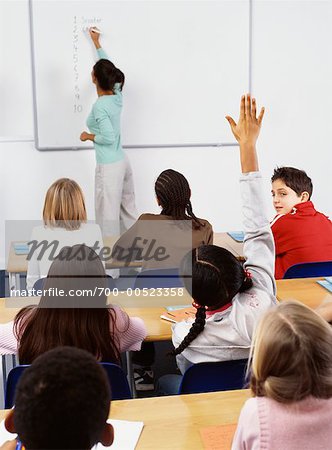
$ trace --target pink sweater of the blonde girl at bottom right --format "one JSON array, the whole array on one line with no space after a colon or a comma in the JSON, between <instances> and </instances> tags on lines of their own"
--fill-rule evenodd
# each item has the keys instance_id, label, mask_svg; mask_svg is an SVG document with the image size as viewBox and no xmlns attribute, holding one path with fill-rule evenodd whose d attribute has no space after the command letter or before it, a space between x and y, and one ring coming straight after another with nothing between
<instances>
[{"instance_id":1,"label":"pink sweater of the blonde girl at bottom right","mask_svg":"<svg viewBox=\"0 0 332 450\"><path fill-rule=\"evenodd\" d=\"M332 448L332 398L283 404L254 397L242 408L232 450Z\"/></svg>"}]
</instances>

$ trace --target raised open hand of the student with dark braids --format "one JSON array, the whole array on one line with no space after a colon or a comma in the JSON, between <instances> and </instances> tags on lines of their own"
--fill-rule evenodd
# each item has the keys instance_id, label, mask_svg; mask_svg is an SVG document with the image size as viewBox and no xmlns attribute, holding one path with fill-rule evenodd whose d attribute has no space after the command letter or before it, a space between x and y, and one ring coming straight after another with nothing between
<instances>
[{"instance_id":1,"label":"raised open hand of the student with dark braids","mask_svg":"<svg viewBox=\"0 0 332 450\"><path fill-rule=\"evenodd\" d=\"M240 117L238 123L230 116L226 116L232 133L238 143L255 144L261 129L265 109L262 108L258 118L256 117L256 99L251 99L250 94L242 95L240 103Z\"/></svg>"}]
</instances>

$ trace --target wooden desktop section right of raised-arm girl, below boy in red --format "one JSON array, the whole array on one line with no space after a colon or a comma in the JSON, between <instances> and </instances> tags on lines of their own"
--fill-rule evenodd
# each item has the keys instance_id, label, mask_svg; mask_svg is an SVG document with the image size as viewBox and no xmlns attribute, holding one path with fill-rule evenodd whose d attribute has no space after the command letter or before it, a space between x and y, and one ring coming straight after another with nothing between
<instances>
[{"instance_id":1,"label":"wooden desktop section right of raised-arm girl, below boy in red","mask_svg":"<svg viewBox=\"0 0 332 450\"><path fill-rule=\"evenodd\" d=\"M332 294L317 283L321 278L295 278L277 280L277 299L298 300L310 308L317 308L323 301L332 301Z\"/></svg>"}]
</instances>

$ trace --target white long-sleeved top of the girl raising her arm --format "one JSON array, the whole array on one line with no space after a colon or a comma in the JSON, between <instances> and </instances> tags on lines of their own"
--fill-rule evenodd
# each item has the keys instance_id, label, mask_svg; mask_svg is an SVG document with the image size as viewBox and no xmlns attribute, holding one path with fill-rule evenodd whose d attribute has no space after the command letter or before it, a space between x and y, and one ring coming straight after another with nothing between
<instances>
[{"instance_id":1,"label":"white long-sleeved top of the girl raising her arm","mask_svg":"<svg viewBox=\"0 0 332 450\"><path fill-rule=\"evenodd\" d=\"M232 306L207 318L204 330L177 358L182 373L200 362L245 359L261 315L276 305L274 281L274 241L265 214L263 187L259 172L240 178L243 227L244 267L252 274L253 287L238 293ZM173 344L178 347L187 336L191 321L173 326Z\"/></svg>"}]
</instances>

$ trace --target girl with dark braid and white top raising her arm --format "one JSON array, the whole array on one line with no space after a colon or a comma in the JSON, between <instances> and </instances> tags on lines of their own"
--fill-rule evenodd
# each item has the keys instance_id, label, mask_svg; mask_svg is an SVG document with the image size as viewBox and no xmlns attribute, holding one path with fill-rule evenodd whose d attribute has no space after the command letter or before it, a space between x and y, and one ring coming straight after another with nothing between
<instances>
[{"instance_id":1,"label":"girl with dark braid and white top raising her arm","mask_svg":"<svg viewBox=\"0 0 332 450\"><path fill-rule=\"evenodd\" d=\"M173 328L174 355L182 372L200 362L248 358L256 322L276 304L274 244L256 155L263 114L264 109L256 118L256 101L247 95L241 99L239 122L227 117L240 144L246 262L242 267L229 251L214 245L184 257L180 272L197 312L194 322Z\"/></svg>"}]
</instances>

